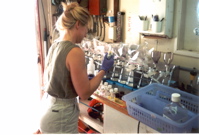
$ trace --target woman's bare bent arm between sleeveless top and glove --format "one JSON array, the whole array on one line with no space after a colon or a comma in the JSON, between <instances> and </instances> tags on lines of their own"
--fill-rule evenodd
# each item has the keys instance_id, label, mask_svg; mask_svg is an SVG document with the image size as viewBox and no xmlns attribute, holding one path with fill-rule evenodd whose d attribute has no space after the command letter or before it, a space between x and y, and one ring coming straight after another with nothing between
<instances>
[{"instance_id":1,"label":"woman's bare bent arm between sleeveless top and glove","mask_svg":"<svg viewBox=\"0 0 199 135\"><path fill-rule=\"evenodd\" d=\"M88 79L85 54L81 48L73 48L68 53L66 67L71 73L74 88L81 99L88 99L105 75L105 71L101 70L92 80Z\"/></svg>"}]
</instances>

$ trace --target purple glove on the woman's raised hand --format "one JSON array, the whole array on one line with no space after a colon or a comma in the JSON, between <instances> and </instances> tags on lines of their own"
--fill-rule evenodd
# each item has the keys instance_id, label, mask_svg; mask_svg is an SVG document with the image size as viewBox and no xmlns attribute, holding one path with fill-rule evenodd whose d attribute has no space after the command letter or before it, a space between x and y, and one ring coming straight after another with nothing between
<instances>
[{"instance_id":1,"label":"purple glove on the woman's raised hand","mask_svg":"<svg viewBox=\"0 0 199 135\"><path fill-rule=\"evenodd\" d=\"M101 70L104 70L105 72L107 72L114 64L114 56L111 55L109 58L107 58L108 53L106 53L106 55L104 56L104 60L102 61L102 66L101 66Z\"/></svg>"}]
</instances>

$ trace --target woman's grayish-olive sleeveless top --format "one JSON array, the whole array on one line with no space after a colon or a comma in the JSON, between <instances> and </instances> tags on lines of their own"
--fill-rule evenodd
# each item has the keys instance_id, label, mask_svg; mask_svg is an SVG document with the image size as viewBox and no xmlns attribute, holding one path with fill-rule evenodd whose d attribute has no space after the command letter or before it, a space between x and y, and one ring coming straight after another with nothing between
<instances>
[{"instance_id":1,"label":"woman's grayish-olive sleeveless top","mask_svg":"<svg viewBox=\"0 0 199 135\"><path fill-rule=\"evenodd\" d=\"M48 52L44 73L45 91L57 98L74 98L74 89L70 72L66 67L66 57L70 50L79 47L69 41L54 43Z\"/></svg>"}]
</instances>

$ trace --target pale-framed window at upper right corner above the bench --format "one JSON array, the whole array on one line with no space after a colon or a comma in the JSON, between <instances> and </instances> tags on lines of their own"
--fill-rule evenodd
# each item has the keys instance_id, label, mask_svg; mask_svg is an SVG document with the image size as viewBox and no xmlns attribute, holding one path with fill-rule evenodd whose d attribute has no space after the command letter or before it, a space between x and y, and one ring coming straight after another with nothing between
<instances>
[{"instance_id":1,"label":"pale-framed window at upper right corner above the bench","mask_svg":"<svg viewBox=\"0 0 199 135\"><path fill-rule=\"evenodd\" d=\"M180 0L178 4L178 39L175 53L199 57L199 36L194 29L199 28L199 0Z\"/></svg>"}]
</instances>

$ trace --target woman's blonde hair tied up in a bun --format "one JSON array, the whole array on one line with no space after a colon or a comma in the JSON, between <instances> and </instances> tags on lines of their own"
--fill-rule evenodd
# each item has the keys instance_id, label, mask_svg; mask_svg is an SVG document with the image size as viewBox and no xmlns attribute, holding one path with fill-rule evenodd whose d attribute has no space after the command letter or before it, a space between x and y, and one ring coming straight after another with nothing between
<instances>
[{"instance_id":1,"label":"woman's blonde hair tied up in a bun","mask_svg":"<svg viewBox=\"0 0 199 135\"><path fill-rule=\"evenodd\" d=\"M58 31L73 28L77 21L82 26L90 25L91 16L86 8L79 6L77 2L62 2L62 6L64 11L55 24Z\"/></svg>"}]
</instances>

